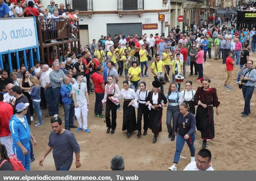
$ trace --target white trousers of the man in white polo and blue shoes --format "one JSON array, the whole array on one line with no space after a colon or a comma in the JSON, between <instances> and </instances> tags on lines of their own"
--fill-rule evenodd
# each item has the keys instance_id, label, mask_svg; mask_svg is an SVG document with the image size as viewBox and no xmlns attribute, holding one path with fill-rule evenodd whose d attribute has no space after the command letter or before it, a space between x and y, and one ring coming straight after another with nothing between
<instances>
[{"instance_id":1,"label":"white trousers of the man in white polo and blue shoes","mask_svg":"<svg viewBox=\"0 0 256 181\"><path fill-rule=\"evenodd\" d=\"M81 111L82 111L82 116L83 116L83 125L82 125L82 119L81 119ZM79 107L75 107L75 116L76 120L78 122L78 126L83 129L87 129L87 103L85 105L79 105Z\"/></svg>"}]
</instances>

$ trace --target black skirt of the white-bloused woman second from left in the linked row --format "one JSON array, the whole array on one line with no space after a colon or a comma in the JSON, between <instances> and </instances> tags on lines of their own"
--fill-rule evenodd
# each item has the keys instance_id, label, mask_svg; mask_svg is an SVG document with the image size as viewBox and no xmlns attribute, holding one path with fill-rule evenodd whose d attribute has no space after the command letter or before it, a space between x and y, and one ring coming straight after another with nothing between
<instances>
[{"instance_id":1,"label":"black skirt of the white-bloused woman second from left in the linked row","mask_svg":"<svg viewBox=\"0 0 256 181\"><path fill-rule=\"evenodd\" d=\"M124 101L123 106L123 128L122 130L127 130L128 133L132 133L136 130L137 121L136 121L136 113L135 113L135 107L132 105L129 105L131 101Z\"/></svg>"}]
</instances>

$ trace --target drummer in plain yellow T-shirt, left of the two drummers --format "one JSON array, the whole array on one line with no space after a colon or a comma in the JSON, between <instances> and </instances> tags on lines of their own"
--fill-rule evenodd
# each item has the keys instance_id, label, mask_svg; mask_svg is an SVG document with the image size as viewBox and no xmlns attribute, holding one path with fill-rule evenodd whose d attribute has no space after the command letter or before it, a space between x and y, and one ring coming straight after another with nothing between
<instances>
[{"instance_id":1,"label":"drummer in plain yellow T-shirt, left of the two drummers","mask_svg":"<svg viewBox=\"0 0 256 181\"><path fill-rule=\"evenodd\" d=\"M155 81L159 81L157 78L157 73L161 72L163 74L163 69L167 79L169 79L166 68L164 67L164 62L160 60L160 55L156 54L155 57L156 57L156 61L153 62L151 65L151 72L154 74ZM161 80L160 82L164 82L164 80ZM164 85L161 85L161 93L164 94Z\"/></svg>"}]
</instances>

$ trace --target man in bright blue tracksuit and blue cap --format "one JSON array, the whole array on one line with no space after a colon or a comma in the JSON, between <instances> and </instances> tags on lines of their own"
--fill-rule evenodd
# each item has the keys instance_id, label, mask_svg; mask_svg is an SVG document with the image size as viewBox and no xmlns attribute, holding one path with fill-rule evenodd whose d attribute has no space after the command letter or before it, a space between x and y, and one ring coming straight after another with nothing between
<instances>
[{"instance_id":1,"label":"man in bright blue tracksuit and blue cap","mask_svg":"<svg viewBox=\"0 0 256 181\"><path fill-rule=\"evenodd\" d=\"M14 154L22 162L26 170L30 170L30 138L33 140L36 146L36 139L31 133L28 120L25 116L28 110L29 103L19 103L16 105L14 114L9 120L9 128L12 135L12 149Z\"/></svg>"}]
</instances>

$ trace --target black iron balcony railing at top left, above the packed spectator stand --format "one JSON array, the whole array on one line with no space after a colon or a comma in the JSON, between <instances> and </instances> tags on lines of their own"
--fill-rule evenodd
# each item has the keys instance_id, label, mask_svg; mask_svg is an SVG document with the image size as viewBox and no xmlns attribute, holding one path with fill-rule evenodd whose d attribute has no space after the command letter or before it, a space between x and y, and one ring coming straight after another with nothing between
<instances>
[{"instance_id":1,"label":"black iron balcony railing at top left, above the packed spectator stand","mask_svg":"<svg viewBox=\"0 0 256 181\"><path fill-rule=\"evenodd\" d=\"M93 11L93 0L65 0L71 8L79 11Z\"/></svg>"}]
</instances>

